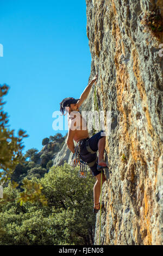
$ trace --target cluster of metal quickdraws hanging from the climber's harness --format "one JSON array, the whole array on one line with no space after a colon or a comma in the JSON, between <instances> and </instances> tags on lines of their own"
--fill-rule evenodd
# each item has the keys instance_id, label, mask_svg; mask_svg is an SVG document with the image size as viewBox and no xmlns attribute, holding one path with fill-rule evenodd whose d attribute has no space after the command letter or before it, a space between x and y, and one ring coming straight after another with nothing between
<instances>
[{"instance_id":1,"label":"cluster of metal quickdraws hanging from the climber's harness","mask_svg":"<svg viewBox=\"0 0 163 256\"><path fill-rule=\"evenodd\" d=\"M87 176L87 170L86 170L87 163L80 159L80 153L79 153L80 149L79 148L80 148L80 145L77 144L76 147L74 148L74 154L72 156L70 165L72 167L80 166L80 170L78 172L78 177L79 178L86 178L86 176Z\"/></svg>"}]
</instances>

